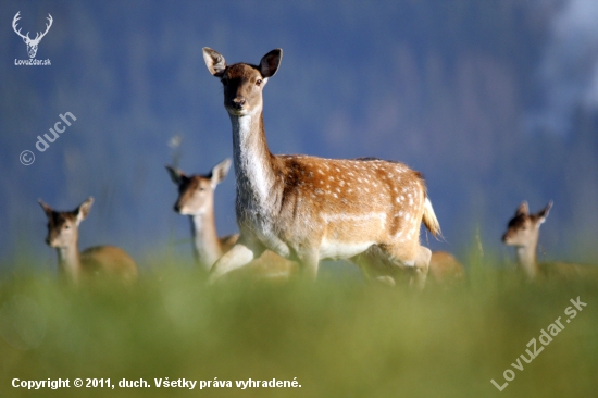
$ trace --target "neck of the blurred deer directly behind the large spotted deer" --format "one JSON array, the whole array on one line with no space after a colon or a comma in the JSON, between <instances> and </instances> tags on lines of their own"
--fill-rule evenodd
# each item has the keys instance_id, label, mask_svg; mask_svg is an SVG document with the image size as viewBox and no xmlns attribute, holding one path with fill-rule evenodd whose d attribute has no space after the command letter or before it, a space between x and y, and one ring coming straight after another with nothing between
<instances>
[{"instance_id":1,"label":"neck of the blurred deer directly behind the large spotted deer","mask_svg":"<svg viewBox=\"0 0 598 398\"><path fill-rule=\"evenodd\" d=\"M213 211L190 215L196 261L209 271L222 257Z\"/></svg>"}]
</instances>

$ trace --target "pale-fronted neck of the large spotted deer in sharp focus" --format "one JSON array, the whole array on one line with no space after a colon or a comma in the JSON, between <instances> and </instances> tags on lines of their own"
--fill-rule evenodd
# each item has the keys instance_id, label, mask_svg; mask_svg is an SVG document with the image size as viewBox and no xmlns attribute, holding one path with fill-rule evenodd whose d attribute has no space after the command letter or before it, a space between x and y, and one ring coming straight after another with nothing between
<instances>
[{"instance_id":1,"label":"pale-fronted neck of the large spotted deer in sharp focus","mask_svg":"<svg viewBox=\"0 0 598 398\"><path fill-rule=\"evenodd\" d=\"M276 172L265 140L262 112L231 115L231 122L237 203L264 211L275 200Z\"/></svg>"}]
</instances>

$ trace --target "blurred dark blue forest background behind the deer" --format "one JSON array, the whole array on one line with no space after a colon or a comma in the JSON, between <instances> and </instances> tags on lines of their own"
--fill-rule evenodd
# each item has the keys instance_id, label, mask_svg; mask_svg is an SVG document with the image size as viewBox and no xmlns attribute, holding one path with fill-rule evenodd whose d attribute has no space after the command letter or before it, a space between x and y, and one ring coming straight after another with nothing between
<instances>
[{"instance_id":1,"label":"blurred dark blue forest background behind the deer","mask_svg":"<svg viewBox=\"0 0 598 398\"><path fill-rule=\"evenodd\" d=\"M37 59L23 33L43 30ZM399 160L426 177L445 241L479 231L501 247L522 200L555 207L547 257L598 258L598 2L595 0L2 1L0 263L55 268L37 199L71 210L94 196L80 247L113 244L141 263L190 259L164 164L208 173L232 156L231 122L201 48L228 63L284 58L264 91L274 153ZM59 114L77 120L45 152ZM183 138L175 149L172 138ZM18 156L32 150L35 163ZM216 189L221 234L237 231L233 173ZM426 237L423 236L425 240Z\"/></svg>"}]
</instances>

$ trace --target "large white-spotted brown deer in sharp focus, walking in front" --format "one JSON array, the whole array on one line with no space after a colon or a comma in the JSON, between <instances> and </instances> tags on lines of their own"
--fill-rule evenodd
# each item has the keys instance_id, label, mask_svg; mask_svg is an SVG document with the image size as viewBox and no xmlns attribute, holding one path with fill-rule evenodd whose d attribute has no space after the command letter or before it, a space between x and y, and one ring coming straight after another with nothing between
<instances>
[{"instance_id":1,"label":"large white-spotted brown deer in sharp focus, walking in front","mask_svg":"<svg viewBox=\"0 0 598 398\"><path fill-rule=\"evenodd\" d=\"M258 65L227 65L203 48L210 73L224 88L224 108L233 125L240 236L211 270L209 281L244 266L264 250L297 261L315 278L320 260L350 259L364 273L393 278L411 272L423 287L431 251L420 245L423 221L433 235L440 226L420 173L398 162L309 156L274 156L263 124L262 90L278 70L281 49ZM359 256L365 253L365 256Z\"/></svg>"}]
</instances>

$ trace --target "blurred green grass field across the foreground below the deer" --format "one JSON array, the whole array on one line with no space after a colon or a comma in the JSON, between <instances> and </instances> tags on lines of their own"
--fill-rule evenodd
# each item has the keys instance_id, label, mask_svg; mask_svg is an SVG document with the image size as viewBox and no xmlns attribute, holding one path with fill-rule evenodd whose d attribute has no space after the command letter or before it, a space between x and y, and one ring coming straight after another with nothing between
<instances>
[{"instance_id":1,"label":"blurred green grass field across the foreground below the deer","mask_svg":"<svg viewBox=\"0 0 598 398\"><path fill-rule=\"evenodd\" d=\"M570 319L577 297L587 307ZM128 288L73 289L18 268L0 277L0 397L595 397L597 315L595 281L528 284L488 264L423 293L331 274L209 288L174 264ZM564 328L544 347L541 329L559 316ZM514 369L533 338L544 350ZM508 369L514 380L499 391L490 380L503 386ZM77 377L116 387L76 388ZM155 387L166 377L197 384ZM27 390L14 378L71 387ZM123 378L150 387L121 388ZM232 387L199 389L215 378ZM301 387L236 386L249 378Z\"/></svg>"}]
</instances>

